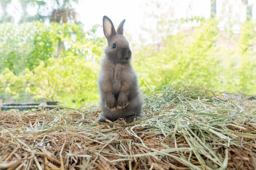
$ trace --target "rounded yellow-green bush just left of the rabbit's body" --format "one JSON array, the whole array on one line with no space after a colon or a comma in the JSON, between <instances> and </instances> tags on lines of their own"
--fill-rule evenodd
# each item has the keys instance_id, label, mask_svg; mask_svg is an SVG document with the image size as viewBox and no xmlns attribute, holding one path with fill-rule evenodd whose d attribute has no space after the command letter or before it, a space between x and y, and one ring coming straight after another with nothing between
<instances>
[{"instance_id":1,"label":"rounded yellow-green bush just left of the rabbit's body","mask_svg":"<svg viewBox=\"0 0 256 170\"><path fill-rule=\"evenodd\" d=\"M78 56L49 58L31 71L20 74L26 79L27 92L36 98L57 100L74 106L98 99L96 77L99 65ZM73 104L72 104L73 103ZM74 104L75 103L75 104Z\"/></svg>"}]
</instances>

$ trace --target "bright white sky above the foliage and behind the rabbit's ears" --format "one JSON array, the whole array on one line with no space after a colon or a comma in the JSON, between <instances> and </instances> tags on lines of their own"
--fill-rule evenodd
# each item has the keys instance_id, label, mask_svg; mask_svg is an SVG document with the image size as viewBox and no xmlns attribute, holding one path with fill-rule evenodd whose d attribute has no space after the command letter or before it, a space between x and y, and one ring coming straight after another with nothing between
<instances>
[{"instance_id":1,"label":"bright white sky above the foliage and behind the rabbit's ears","mask_svg":"<svg viewBox=\"0 0 256 170\"><path fill-rule=\"evenodd\" d=\"M19 21L20 6L17 5L19 0L12 0L12 5L9 6L10 14L15 15L15 23ZM217 17L224 17L220 27L227 23L228 8L233 6L232 17L239 22L246 19L246 7L241 3L242 0L217 0ZM256 1L248 0L249 4L254 2L253 20L256 20ZM125 22L125 32L131 35L131 40L137 42L140 35L144 38L149 36L141 29L141 26L146 28L154 28L155 21L145 17L145 14L156 12L156 6L146 7L145 4L149 0L79 0L79 5L74 8L79 14L79 20L84 24L84 30L89 30L93 25L102 25L102 17L107 15L117 26L123 19ZM210 0L159 0L161 4L168 3L164 6L172 6L174 8L174 19L186 18L192 16L201 16L208 18L210 16ZM224 5L226 4L226 5ZM21 11L21 10L20 10ZM36 8L28 8L29 14L35 14ZM168 11L168 10L166 10ZM161 11L163 12L163 11ZM1 12L0 12L1 13ZM186 25L193 26L193 24ZM234 30L239 30L237 25ZM103 31L99 31L100 37L104 36Z\"/></svg>"}]
</instances>

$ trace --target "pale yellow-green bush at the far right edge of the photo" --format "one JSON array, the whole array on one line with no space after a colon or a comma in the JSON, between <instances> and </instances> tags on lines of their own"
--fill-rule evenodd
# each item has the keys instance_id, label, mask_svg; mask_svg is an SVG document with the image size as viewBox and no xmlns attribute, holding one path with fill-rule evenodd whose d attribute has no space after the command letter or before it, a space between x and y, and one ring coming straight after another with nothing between
<instances>
[{"instance_id":1,"label":"pale yellow-green bush at the far right edge of the photo","mask_svg":"<svg viewBox=\"0 0 256 170\"><path fill-rule=\"evenodd\" d=\"M221 54L226 62L224 68L223 88L230 92L256 93L256 52L253 41L256 37L256 23L245 21L242 25L236 49L222 49Z\"/></svg>"}]
</instances>

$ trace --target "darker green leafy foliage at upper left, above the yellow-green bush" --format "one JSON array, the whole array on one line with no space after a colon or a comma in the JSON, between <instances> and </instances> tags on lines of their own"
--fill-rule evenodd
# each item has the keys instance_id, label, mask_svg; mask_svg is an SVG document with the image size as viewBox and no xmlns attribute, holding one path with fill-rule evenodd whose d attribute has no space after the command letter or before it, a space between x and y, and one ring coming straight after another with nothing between
<instances>
[{"instance_id":1,"label":"darker green leafy foliage at upper left, above the yellow-green bush","mask_svg":"<svg viewBox=\"0 0 256 170\"><path fill-rule=\"evenodd\" d=\"M40 22L0 24L0 70L10 68L15 74L25 68L32 70L40 61L61 55L61 42L69 44L65 51L74 51L82 55L84 50L77 50L76 43L84 41L84 31L77 24L51 23L49 26Z\"/></svg>"}]
</instances>

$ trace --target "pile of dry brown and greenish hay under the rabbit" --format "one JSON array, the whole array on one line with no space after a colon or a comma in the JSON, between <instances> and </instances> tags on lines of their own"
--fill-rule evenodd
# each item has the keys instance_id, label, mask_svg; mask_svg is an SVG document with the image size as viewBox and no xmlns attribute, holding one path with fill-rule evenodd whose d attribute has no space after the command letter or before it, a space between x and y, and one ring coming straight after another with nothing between
<instances>
[{"instance_id":1,"label":"pile of dry brown and greenish hay under the rabbit","mask_svg":"<svg viewBox=\"0 0 256 170\"><path fill-rule=\"evenodd\" d=\"M0 112L0 169L255 169L256 100L168 86L131 125L99 108Z\"/></svg>"}]
</instances>

